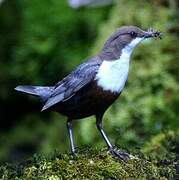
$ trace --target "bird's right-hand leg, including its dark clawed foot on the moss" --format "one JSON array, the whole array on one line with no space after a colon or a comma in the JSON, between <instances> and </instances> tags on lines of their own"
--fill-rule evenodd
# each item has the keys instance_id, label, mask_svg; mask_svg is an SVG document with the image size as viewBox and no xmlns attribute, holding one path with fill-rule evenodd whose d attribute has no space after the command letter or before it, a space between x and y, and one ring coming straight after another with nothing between
<instances>
[{"instance_id":1,"label":"bird's right-hand leg, including its dark clawed foot on the moss","mask_svg":"<svg viewBox=\"0 0 179 180\"><path fill-rule=\"evenodd\" d=\"M130 155L126 152L122 152L120 150L117 150L117 149L114 149L113 145L110 143L109 139L107 138L104 130L103 130L103 127L102 127L102 118L103 118L103 114L98 114L96 115L96 126L98 128L98 130L100 131L103 139L105 140L107 146L108 146L108 149L110 151L110 153L115 156L115 157L118 157L124 161L130 159Z\"/></svg>"}]
</instances>

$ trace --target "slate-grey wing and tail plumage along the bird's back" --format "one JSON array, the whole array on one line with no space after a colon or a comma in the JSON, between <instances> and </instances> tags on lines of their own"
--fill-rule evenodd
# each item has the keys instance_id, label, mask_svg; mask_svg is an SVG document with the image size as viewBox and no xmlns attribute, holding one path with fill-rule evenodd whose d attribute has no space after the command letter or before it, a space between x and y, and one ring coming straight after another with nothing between
<instances>
[{"instance_id":1,"label":"slate-grey wing and tail plumage along the bird's back","mask_svg":"<svg viewBox=\"0 0 179 180\"><path fill-rule=\"evenodd\" d=\"M15 90L38 96L44 102L41 110L44 111L61 101L68 100L78 90L90 83L94 79L100 64L101 60L96 56L79 65L55 86L17 86Z\"/></svg>"}]
</instances>

